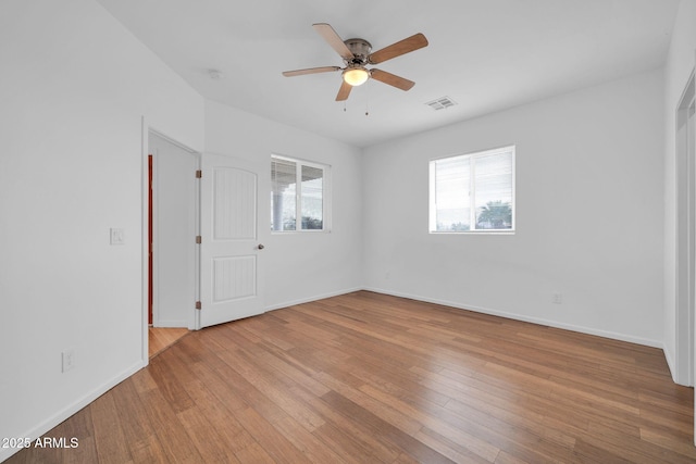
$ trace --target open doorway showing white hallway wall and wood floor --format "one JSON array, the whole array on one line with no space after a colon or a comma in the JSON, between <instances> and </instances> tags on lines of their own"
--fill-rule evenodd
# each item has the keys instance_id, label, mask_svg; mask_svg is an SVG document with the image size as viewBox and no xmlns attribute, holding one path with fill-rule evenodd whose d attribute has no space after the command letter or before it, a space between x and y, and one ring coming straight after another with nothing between
<instances>
[{"instance_id":1,"label":"open doorway showing white hallway wall and wood floor","mask_svg":"<svg viewBox=\"0 0 696 464\"><path fill-rule=\"evenodd\" d=\"M199 154L148 131L148 356L194 328Z\"/></svg>"}]
</instances>

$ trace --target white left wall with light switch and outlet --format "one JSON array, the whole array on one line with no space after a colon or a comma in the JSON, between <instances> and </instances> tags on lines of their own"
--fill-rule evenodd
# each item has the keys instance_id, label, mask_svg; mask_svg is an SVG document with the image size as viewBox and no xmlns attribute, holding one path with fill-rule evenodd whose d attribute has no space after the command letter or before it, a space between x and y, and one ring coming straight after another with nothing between
<instances>
[{"instance_id":1,"label":"white left wall with light switch and outlet","mask_svg":"<svg viewBox=\"0 0 696 464\"><path fill-rule=\"evenodd\" d=\"M203 100L90 0L4 0L0 62L0 437L36 437L147 362L141 118L202 150Z\"/></svg>"}]
</instances>

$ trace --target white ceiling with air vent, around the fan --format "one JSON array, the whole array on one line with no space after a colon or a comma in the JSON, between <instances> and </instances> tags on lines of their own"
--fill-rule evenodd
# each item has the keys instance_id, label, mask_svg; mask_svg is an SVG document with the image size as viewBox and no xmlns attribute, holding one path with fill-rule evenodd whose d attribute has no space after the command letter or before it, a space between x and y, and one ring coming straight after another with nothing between
<instances>
[{"instance_id":1,"label":"white ceiling with air vent, around the fan","mask_svg":"<svg viewBox=\"0 0 696 464\"><path fill-rule=\"evenodd\" d=\"M660 66L679 0L97 0L203 97L358 147ZM423 33L430 46L378 67L344 104L343 66L314 32L373 50ZM220 70L212 79L209 70ZM434 111L447 96L458 105ZM344 111L345 110L345 111ZM369 115L365 115L365 111Z\"/></svg>"}]
</instances>

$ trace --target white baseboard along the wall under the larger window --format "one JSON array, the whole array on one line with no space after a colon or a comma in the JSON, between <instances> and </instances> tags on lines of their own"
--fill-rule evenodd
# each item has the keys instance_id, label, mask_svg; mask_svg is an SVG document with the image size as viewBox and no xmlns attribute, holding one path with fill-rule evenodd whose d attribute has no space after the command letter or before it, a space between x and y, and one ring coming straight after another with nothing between
<instances>
[{"instance_id":1,"label":"white baseboard along the wall under the larger window","mask_svg":"<svg viewBox=\"0 0 696 464\"><path fill-rule=\"evenodd\" d=\"M620 341L626 341L626 342L630 342L630 343L643 344L643 346L651 347L651 348L659 348L662 351L664 351L664 346L663 346L663 343L661 341L651 340L649 338L634 337L634 336L626 335L626 334L618 334L618 333L613 333L613 331L609 331L609 330L599 330L599 329L595 329L595 328L592 328L592 327L577 326L577 325L573 325L573 324L564 324L564 323L559 323L557 321L545 319L545 318L542 318L542 317L530 317L530 316L525 316L525 315L521 315L521 314L508 313L508 312L498 311L498 310L492 310L492 309L488 309L488 308L481 308L481 306L475 306L475 305L471 305L471 304L462 304L462 303L458 303L458 302L453 302L453 301L427 298L427 297L422 297L422 296L418 296L418 294L411 294L411 293L403 293L403 292L398 292L398 291L385 290L385 289L381 289L381 288L365 287L364 290L374 291L375 293L389 294L389 296L393 296L393 297L408 298L408 299L411 299L411 300L424 301L424 302L427 302L427 303L442 304L444 306L451 306L451 308L457 308L457 309L460 309L460 310L474 311L476 313L490 314L493 316L500 316L500 317L506 317L506 318L509 318L509 319L515 319L515 321L523 321L523 322L526 322L526 323L539 324L539 325L544 325L544 326L547 326L547 327L561 328L561 329L564 329L564 330L576 331L576 333L580 333L580 334L596 335L598 337L610 338L612 340L620 340Z\"/></svg>"}]
</instances>

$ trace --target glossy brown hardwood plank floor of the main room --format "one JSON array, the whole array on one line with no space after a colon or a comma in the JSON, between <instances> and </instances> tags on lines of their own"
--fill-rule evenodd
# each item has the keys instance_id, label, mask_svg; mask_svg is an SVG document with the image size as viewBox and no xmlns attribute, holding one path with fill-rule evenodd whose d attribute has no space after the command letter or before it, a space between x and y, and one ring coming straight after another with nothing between
<instances>
[{"instance_id":1,"label":"glossy brown hardwood plank floor of the main room","mask_svg":"<svg viewBox=\"0 0 696 464\"><path fill-rule=\"evenodd\" d=\"M694 463L660 350L360 291L191 333L10 463Z\"/></svg>"}]
</instances>

